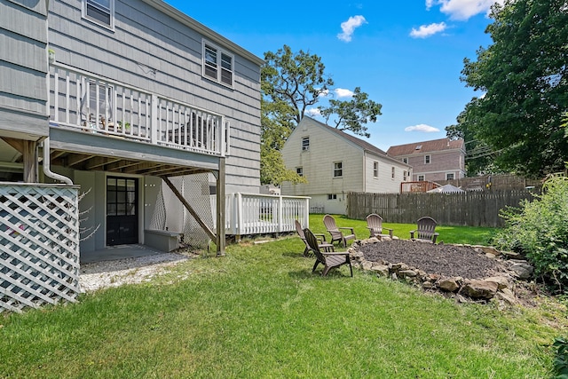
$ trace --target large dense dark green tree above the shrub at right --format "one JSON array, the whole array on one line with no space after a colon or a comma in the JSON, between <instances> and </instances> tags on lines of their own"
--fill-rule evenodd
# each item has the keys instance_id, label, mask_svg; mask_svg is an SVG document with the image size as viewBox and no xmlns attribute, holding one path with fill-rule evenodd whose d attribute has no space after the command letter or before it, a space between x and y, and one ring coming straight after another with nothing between
<instances>
[{"instance_id":1,"label":"large dense dark green tree above the shrub at right","mask_svg":"<svg viewBox=\"0 0 568 379\"><path fill-rule=\"evenodd\" d=\"M485 96L458 129L484 143L494 163L528 177L562 170L568 139L568 11L565 0L506 0L486 28L493 44L464 59L461 80ZM466 140L466 143L468 141Z\"/></svg>"}]
</instances>

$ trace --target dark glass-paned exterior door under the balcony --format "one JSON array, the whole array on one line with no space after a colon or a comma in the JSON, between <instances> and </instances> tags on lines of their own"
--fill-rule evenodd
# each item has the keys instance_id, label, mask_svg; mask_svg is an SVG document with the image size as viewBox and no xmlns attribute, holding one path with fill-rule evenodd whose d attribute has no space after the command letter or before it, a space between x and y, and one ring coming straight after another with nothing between
<instances>
[{"instance_id":1,"label":"dark glass-paned exterior door under the balcony","mask_svg":"<svg viewBox=\"0 0 568 379\"><path fill-rule=\"evenodd\" d=\"M138 243L138 179L106 178L106 245Z\"/></svg>"}]
</instances>

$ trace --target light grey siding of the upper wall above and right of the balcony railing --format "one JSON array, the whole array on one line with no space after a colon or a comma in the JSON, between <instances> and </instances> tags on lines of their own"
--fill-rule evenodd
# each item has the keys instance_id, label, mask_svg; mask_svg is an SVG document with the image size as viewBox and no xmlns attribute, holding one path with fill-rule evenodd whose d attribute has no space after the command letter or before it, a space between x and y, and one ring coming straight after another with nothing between
<instances>
[{"instance_id":1,"label":"light grey siding of the upper wall above and right of the balcony railing","mask_svg":"<svg viewBox=\"0 0 568 379\"><path fill-rule=\"evenodd\" d=\"M258 192L258 61L240 54L241 48L205 27L201 30L207 35L190 28L183 13L161 1L116 1L114 30L82 19L81 4L79 0L50 2L49 41L56 60L224 114L232 128L225 191ZM233 88L201 76L203 38L233 53ZM249 170L241 170L243 162Z\"/></svg>"}]
</instances>

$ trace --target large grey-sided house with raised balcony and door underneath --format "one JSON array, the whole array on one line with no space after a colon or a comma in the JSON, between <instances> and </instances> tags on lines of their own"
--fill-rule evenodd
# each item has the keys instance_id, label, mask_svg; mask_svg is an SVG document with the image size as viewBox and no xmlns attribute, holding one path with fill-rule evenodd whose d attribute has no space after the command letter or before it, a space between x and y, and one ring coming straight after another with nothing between
<instances>
[{"instance_id":1,"label":"large grey-sided house with raised balcony and door underneath","mask_svg":"<svg viewBox=\"0 0 568 379\"><path fill-rule=\"evenodd\" d=\"M262 59L161 0L2 0L0 31L0 181L88 192L82 254L153 240L191 188L224 249L225 193L259 191Z\"/></svg>"}]
</instances>

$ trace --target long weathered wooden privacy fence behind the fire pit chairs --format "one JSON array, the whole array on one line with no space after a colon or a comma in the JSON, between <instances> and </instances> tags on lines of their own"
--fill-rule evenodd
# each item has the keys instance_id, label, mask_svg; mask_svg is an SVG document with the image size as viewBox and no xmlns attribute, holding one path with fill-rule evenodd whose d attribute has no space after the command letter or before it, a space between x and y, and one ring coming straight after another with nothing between
<instances>
[{"instance_id":1,"label":"long weathered wooden privacy fence behind the fire pit chairs","mask_svg":"<svg viewBox=\"0 0 568 379\"><path fill-rule=\"evenodd\" d=\"M499 216L506 207L518 207L524 199L533 200L533 192L483 191L466 193L348 193L347 216L365 219L376 213L385 222L414 224L430 216L440 225L502 227Z\"/></svg>"}]
</instances>

